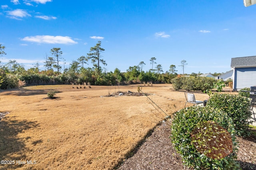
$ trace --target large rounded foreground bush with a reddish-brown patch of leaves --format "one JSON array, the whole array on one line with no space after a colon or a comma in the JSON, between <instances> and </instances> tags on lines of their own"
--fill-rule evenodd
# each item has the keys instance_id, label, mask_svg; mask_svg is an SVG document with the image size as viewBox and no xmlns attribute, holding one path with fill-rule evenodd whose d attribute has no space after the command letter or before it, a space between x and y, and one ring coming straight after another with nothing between
<instances>
[{"instance_id":1,"label":"large rounded foreground bush with a reddish-brown patch of leaves","mask_svg":"<svg viewBox=\"0 0 256 170\"><path fill-rule=\"evenodd\" d=\"M207 126L205 126L207 124ZM216 127L221 126L225 128L230 134L230 140L225 139L217 141L218 138L214 137L221 135L223 131L218 131L219 134L212 131ZM206 128L208 127L208 128ZM200 129L204 133L198 133L193 135L194 131ZM224 131L226 131L224 130ZM181 154L183 162L188 167L193 167L198 170L236 170L240 169L240 164L235 160L237 153L237 144L235 142L234 125L232 119L227 113L214 109L212 107L187 107L181 109L174 114L172 121L172 143L178 153ZM206 145L205 136L211 137L210 142L216 142L219 144L221 149L210 147ZM223 138L222 138L223 139ZM207 141L209 141L207 140ZM223 154L222 149L225 150L226 146L229 146L231 142L232 150L228 151L228 154ZM195 145L198 144L198 145ZM198 147L205 147L204 152L198 149ZM228 147L230 148L230 146ZM206 156L208 154L218 151L217 158Z\"/></svg>"}]
</instances>

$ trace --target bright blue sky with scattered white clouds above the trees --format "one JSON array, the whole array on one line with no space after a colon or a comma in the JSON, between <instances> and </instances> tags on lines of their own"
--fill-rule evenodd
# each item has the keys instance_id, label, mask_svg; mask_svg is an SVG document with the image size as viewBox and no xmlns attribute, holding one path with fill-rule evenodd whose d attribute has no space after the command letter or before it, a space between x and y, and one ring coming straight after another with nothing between
<instances>
[{"instance_id":1,"label":"bright blue sky with scattered white clouds above the trees","mask_svg":"<svg viewBox=\"0 0 256 170\"><path fill-rule=\"evenodd\" d=\"M256 5L243 0L1 0L0 7L7 54L0 60L26 69L38 62L44 70L54 47L67 68L98 41L107 71L141 61L146 71L155 57L164 72L174 64L181 74L182 60L187 74L226 72L231 58L256 55Z\"/></svg>"}]
</instances>

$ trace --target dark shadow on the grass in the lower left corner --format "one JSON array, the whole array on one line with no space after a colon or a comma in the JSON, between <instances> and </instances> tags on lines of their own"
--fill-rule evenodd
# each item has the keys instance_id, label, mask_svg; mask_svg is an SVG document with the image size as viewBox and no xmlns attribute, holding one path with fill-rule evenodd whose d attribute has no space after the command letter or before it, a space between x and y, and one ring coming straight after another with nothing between
<instances>
[{"instance_id":1,"label":"dark shadow on the grass in the lower left corner","mask_svg":"<svg viewBox=\"0 0 256 170\"><path fill-rule=\"evenodd\" d=\"M0 122L0 160L14 160L14 164L1 164L0 170L15 169L23 165L16 164L16 160L27 160L25 142L31 137L19 137L23 131L38 127L36 121L2 120ZM38 141L35 141L38 143Z\"/></svg>"}]
</instances>

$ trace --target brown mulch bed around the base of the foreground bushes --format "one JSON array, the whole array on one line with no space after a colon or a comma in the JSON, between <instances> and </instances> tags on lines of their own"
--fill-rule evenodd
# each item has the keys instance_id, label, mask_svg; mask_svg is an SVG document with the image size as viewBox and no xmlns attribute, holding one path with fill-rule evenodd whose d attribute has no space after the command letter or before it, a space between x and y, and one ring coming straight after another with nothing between
<instances>
[{"instance_id":1,"label":"brown mulch bed around the base of the foreground bushes","mask_svg":"<svg viewBox=\"0 0 256 170\"><path fill-rule=\"evenodd\" d=\"M132 157L122 162L118 170L192 170L184 167L182 158L171 143L170 120L163 121ZM238 162L242 170L256 170L256 140L252 137L236 137Z\"/></svg>"}]
</instances>

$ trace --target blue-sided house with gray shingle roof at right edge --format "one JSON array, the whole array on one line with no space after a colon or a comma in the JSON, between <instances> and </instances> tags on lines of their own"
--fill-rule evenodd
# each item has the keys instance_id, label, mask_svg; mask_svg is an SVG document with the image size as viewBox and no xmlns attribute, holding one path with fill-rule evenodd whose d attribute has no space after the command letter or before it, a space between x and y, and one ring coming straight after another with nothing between
<instances>
[{"instance_id":1,"label":"blue-sided house with gray shingle roof at right edge","mask_svg":"<svg viewBox=\"0 0 256 170\"><path fill-rule=\"evenodd\" d=\"M256 56L232 58L231 68L234 90L256 85Z\"/></svg>"}]
</instances>

